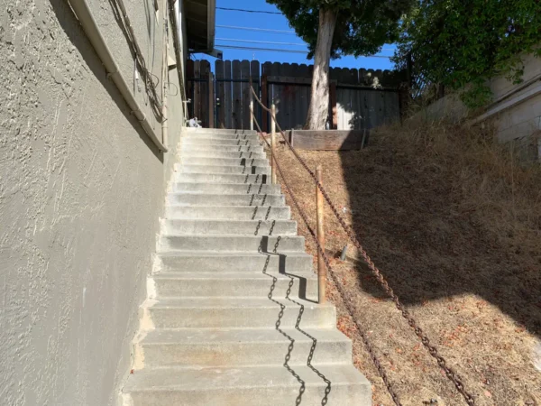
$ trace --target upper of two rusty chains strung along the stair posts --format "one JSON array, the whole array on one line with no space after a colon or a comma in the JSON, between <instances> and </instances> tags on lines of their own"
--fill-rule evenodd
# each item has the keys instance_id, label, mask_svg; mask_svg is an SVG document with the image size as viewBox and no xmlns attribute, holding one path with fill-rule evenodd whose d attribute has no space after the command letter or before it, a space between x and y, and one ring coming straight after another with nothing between
<instances>
[{"instance_id":1,"label":"upper of two rusty chains strung along the stair posts","mask_svg":"<svg viewBox=\"0 0 541 406\"><path fill-rule=\"evenodd\" d=\"M255 93L253 88L251 88L251 89L252 89L253 97L255 97L256 101L260 104L261 108L263 108L263 110L267 111L268 113L271 113L271 109L269 109L267 106L264 106L262 104L262 102L261 102L261 99ZM399 300L399 297L397 296L397 294L390 287L389 282L381 274L381 271L378 269L378 267L376 267L376 265L371 261L371 257L366 253L366 251L362 247L362 245L359 242L359 240L357 239L357 236L355 235L355 232L353 231L352 227L347 225L347 223L344 220L344 217L342 217L340 215L340 213L338 212L338 209L335 207L335 204L333 203L333 201L329 197L328 193L326 192L326 189L324 189L323 185L317 180L316 173L314 173L314 171L310 170L310 168L307 165L307 162L302 159L302 157L298 154L298 152L295 150L293 145L291 145L291 143L289 142L288 137L286 136L286 134L284 134L284 131L281 129L280 124L276 120L276 117L271 114L271 119L274 120L274 122L276 123L276 126L279 129L282 138L284 139L285 143L289 146L289 149L291 150L291 152L293 152L293 154L298 159L300 164L304 167L304 169L308 172L308 174L312 177L312 179L316 183L317 188L323 194L323 197L326 199L327 204L329 205L329 207L331 208L331 210L335 214L336 219L338 220L340 225L344 228L344 231L345 231L346 235L352 241L353 245L355 245L355 247L359 250L359 253L362 256L362 259L365 261L365 263L368 264L368 267L371 270L372 274L375 276L377 281L380 282L382 289L390 296L390 299L393 300L393 302L395 303L395 306L401 312L402 317L405 318L408 321L409 327L413 329L413 331L415 332L417 337L420 339L423 346L425 346L428 353L433 358L436 359L436 363L445 372L445 376L452 383L454 383L454 386L456 387L457 391L460 392L463 395L464 401L466 401L466 403L468 403L471 406L474 405L475 401L474 401L472 395L469 392L467 392L466 389L464 388L461 377L456 372L454 372L453 368L451 368L450 366L447 366L445 358L442 355L439 354L439 352L437 351L436 346L434 346L434 345L432 345L430 343L430 339L426 336L426 333L423 331L422 328L418 327L417 320L411 316L408 309L406 309L404 307L404 305ZM265 142L267 142L267 140L265 140ZM272 152L272 154L274 154L274 152ZM272 156L272 159L274 160L274 162L277 163L276 166L278 168L278 161L275 159L274 156ZM283 174L281 173L281 171L280 171L280 175L281 175L282 180L284 180L284 185L286 185L286 180L285 180ZM287 186L286 186L286 188L287 188ZM328 265L327 265L327 268L328 268ZM393 398L393 400L394 400L394 398Z\"/></svg>"}]
</instances>

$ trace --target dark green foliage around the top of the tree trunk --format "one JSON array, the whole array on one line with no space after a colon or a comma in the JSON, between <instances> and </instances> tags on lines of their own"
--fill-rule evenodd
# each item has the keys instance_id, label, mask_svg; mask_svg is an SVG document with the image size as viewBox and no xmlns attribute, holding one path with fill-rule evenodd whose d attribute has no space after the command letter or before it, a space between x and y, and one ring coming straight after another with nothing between
<instances>
[{"instance_id":1,"label":"dark green foliage around the top of the tree trunk","mask_svg":"<svg viewBox=\"0 0 541 406\"><path fill-rule=\"evenodd\" d=\"M411 0L267 0L286 15L289 25L307 42L314 56L319 10L337 15L331 57L373 55L399 38L399 19Z\"/></svg>"}]
</instances>

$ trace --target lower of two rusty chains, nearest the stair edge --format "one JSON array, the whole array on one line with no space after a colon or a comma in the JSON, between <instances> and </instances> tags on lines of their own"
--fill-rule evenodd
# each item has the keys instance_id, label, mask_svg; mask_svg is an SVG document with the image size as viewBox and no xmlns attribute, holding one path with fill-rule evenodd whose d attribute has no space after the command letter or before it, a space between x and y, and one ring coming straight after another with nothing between
<instances>
[{"instance_id":1,"label":"lower of two rusty chains, nearest the stair edge","mask_svg":"<svg viewBox=\"0 0 541 406\"><path fill-rule=\"evenodd\" d=\"M252 112L252 116L253 116L253 122L256 125L259 134L262 134L261 127L260 127L259 123L257 122L257 119L255 118L255 116L253 115L253 112ZM353 323L355 324L355 328L357 328L357 331L359 332L359 335L362 338L362 342L363 342L364 346L366 347L366 350L367 350L368 354L370 355L373 364L376 366L376 369L378 370L378 374L380 374L381 379L383 380L383 383L385 383L385 386L387 387L387 391L389 392L390 397L392 398L392 400L395 402L395 404L397 406L402 406L402 403L400 403L400 401L399 401L399 396L394 391L394 389L392 387L392 384L390 383L389 378L387 376L387 373L385 372L385 369L383 368L383 366L380 363L380 360L378 359L378 357L374 353L373 349L371 348L370 342L368 341L368 337L366 336L366 334L364 333L364 330L359 325L359 322L357 321L357 319L354 317L355 311L353 310L352 303L349 300L346 299L347 295L345 294L344 289L342 288L342 286L340 285L339 281L336 278L335 272L334 272L334 270L333 270L333 268L331 266L331 263L329 261L329 258L327 256L325 250L319 244L319 241L318 241L317 236L316 236L316 232L314 231L314 229L308 223L306 213L304 212L304 210L302 208L300 208L300 205L298 204L297 197L293 193L292 189L289 187L288 180L286 180L286 177L284 176L284 173L281 170L280 163L276 159L276 157L274 156L274 151L271 148L271 144L267 141L267 139L264 136L261 136L261 138L263 139L263 141L267 144L267 146L271 150L271 160L274 161L274 163L276 165L276 169L280 173L280 177L281 177L281 179L282 179L282 181L284 183L284 186L286 187L286 189L288 191L289 197L293 201L293 205L295 206L295 208L298 211L299 216L302 218L303 222L307 226L308 233L310 235L312 235L312 237L313 237L313 239L314 239L314 241L315 241L315 243L317 245L317 251L320 254L323 255L323 260L324 260L324 262L326 264L326 268L327 268L328 272L331 275L331 278L333 278L333 282L335 283L336 290L340 293L340 297L341 297L342 301L344 302L344 306L347 309L347 311L348 311L349 315L351 316L351 318L353 319Z\"/></svg>"}]
</instances>

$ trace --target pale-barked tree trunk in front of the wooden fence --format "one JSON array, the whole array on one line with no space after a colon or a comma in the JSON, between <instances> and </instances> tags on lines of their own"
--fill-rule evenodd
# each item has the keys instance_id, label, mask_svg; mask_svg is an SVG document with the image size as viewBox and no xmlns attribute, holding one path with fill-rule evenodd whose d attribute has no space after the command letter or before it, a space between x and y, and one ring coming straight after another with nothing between
<instances>
[{"instance_id":1,"label":"pale-barked tree trunk in front of the wooden fence","mask_svg":"<svg viewBox=\"0 0 541 406\"><path fill-rule=\"evenodd\" d=\"M314 76L312 78L312 98L308 108L308 130L325 130L329 116L329 64L331 47L335 35L336 14L332 10L319 10L319 29L317 30Z\"/></svg>"}]
</instances>

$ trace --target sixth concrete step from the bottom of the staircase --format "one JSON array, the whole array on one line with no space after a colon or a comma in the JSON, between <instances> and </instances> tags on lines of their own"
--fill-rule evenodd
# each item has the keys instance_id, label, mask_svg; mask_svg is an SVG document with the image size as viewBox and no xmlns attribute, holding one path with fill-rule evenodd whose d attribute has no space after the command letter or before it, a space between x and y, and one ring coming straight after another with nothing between
<instances>
[{"instance_id":1,"label":"sixth concrete step from the bottom of the staircase","mask_svg":"<svg viewBox=\"0 0 541 406\"><path fill-rule=\"evenodd\" d=\"M168 251L225 251L228 253L304 252L303 236L267 235L160 235L158 252Z\"/></svg>"}]
</instances>

